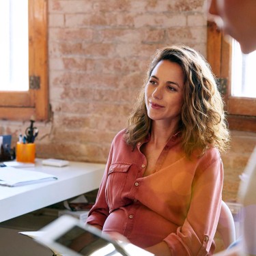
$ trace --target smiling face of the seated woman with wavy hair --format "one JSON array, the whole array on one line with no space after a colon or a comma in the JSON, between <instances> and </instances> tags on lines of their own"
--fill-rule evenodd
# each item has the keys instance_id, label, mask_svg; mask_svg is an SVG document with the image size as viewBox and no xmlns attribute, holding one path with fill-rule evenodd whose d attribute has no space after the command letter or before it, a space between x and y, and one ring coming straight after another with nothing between
<instances>
[{"instance_id":1,"label":"smiling face of the seated woman with wavy hair","mask_svg":"<svg viewBox=\"0 0 256 256\"><path fill-rule=\"evenodd\" d=\"M179 64L160 61L145 86L147 115L156 122L170 125L180 121L182 111L184 73Z\"/></svg>"}]
</instances>

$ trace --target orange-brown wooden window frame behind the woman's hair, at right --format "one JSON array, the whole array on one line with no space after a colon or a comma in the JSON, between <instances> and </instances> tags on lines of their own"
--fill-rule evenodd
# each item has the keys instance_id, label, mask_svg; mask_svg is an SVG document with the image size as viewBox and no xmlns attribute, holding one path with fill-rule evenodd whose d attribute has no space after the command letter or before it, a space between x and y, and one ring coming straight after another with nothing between
<instances>
[{"instance_id":1,"label":"orange-brown wooden window frame behind the woman's hair, at right","mask_svg":"<svg viewBox=\"0 0 256 256\"><path fill-rule=\"evenodd\" d=\"M223 33L212 22L208 22L207 55L208 62L219 80L221 93L225 99L229 128L256 132L256 98L232 94L235 86L231 81L232 45L225 40ZM250 82L252 83L250 87L255 88L253 84L255 79Z\"/></svg>"}]
</instances>

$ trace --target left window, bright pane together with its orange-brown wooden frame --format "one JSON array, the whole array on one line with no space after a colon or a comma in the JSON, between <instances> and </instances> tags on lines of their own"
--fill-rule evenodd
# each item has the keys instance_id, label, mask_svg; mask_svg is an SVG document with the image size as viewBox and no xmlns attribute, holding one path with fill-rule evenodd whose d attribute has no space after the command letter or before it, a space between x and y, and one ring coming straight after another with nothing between
<instances>
[{"instance_id":1,"label":"left window, bright pane together with its orange-brown wooden frame","mask_svg":"<svg viewBox=\"0 0 256 256\"><path fill-rule=\"evenodd\" d=\"M48 119L47 3L0 0L0 119Z\"/></svg>"}]
</instances>

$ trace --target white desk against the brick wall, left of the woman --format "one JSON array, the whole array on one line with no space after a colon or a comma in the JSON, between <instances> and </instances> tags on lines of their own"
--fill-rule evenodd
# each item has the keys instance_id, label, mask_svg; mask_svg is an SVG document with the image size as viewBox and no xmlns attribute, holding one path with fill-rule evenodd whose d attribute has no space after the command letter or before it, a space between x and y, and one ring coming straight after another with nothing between
<instances>
[{"instance_id":1,"label":"white desk against the brick wall, left of the woman","mask_svg":"<svg viewBox=\"0 0 256 256\"><path fill-rule=\"evenodd\" d=\"M70 162L68 167L49 167L35 161L29 170L55 175L58 180L18 187L0 186L0 222L97 189L105 165Z\"/></svg>"}]
</instances>

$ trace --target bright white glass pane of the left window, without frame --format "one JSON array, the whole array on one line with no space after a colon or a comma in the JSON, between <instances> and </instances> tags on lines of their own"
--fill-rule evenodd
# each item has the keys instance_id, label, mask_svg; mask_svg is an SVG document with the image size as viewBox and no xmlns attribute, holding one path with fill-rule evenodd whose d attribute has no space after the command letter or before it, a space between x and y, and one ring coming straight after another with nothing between
<instances>
[{"instance_id":1,"label":"bright white glass pane of the left window, without frame","mask_svg":"<svg viewBox=\"0 0 256 256\"><path fill-rule=\"evenodd\" d=\"M0 1L0 90L29 89L28 0Z\"/></svg>"}]
</instances>

